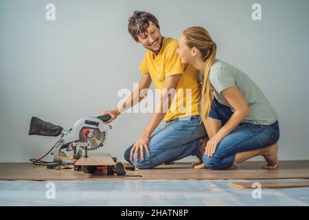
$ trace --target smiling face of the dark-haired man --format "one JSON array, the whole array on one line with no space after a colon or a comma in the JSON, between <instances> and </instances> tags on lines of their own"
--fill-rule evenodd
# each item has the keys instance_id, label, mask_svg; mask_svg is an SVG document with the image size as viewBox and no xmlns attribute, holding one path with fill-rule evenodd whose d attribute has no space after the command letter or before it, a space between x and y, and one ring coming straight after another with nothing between
<instances>
[{"instance_id":1,"label":"smiling face of the dark-haired man","mask_svg":"<svg viewBox=\"0 0 309 220\"><path fill-rule=\"evenodd\" d=\"M149 22L149 27L146 32L139 34L139 43L141 43L146 49L159 53L161 50L161 34L159 28L152 22Z\"/></svg>"}]
</instances>

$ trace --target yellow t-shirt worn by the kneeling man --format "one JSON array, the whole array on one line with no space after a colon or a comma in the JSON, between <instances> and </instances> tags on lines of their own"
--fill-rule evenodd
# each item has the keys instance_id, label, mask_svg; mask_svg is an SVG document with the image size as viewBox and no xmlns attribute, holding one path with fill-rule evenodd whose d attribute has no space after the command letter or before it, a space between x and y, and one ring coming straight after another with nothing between
<instances>
[{"instance_id":1,"label":"yellow t-shirt worn by the kneeling man","mask_svg":"<svg viewBox=\"0 0 309 220\"><path fill-rule=\"evenodd\" d=\"M200 114L201 85L198 83L198 70L192 65L181 64L177 48L176 40L163 37L159 54L153 58L152 52L147 50L139 65L140 72L150 74L156 89L163 89L165 77L182 74L176 87L175 98L164 117L165 122Z\"/></svg>"}]
</instances>

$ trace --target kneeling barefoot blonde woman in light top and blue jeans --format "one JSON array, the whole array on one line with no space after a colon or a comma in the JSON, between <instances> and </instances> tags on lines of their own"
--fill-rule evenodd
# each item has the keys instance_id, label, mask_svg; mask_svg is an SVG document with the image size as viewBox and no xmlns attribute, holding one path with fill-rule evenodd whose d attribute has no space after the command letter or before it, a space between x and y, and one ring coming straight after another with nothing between
<instances>
[{"instance_id":1,"label":"kneeling barefoot blonde woman in light top and blue jeans","mask_svg":"<svg viewBox=\"0 0 309 220\"><path fill-rule=\"evenodd\" d=\"M262 155L267 162L263 168L276 169L279 124L261 89L239 69L216 59L216 43L204 28L184 30L178 52L182 63L203 72L201 120L208 137L195 168L231 168Z\"/></svg>"}]
</instances>

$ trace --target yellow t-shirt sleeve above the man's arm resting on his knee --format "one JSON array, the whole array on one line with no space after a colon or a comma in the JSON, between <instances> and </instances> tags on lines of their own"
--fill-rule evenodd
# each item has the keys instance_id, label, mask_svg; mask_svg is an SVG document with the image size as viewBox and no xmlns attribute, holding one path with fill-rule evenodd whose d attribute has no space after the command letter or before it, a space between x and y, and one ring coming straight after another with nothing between
<instances>
[{"instance_id":1,"label":"yellow t-shirt sleeve above the man's arm resting on his knee","mask_svg":"<svg viewBox=\"0 0 309 220\"><path fill-rule=\"evenodd\" d=\"M181 58L177 51L177 44L170 45L166 48L166 56L164 60L165 65L165 77L175 74L183 74L183 65L181 64Z\"/></svg>"}]
</instances>

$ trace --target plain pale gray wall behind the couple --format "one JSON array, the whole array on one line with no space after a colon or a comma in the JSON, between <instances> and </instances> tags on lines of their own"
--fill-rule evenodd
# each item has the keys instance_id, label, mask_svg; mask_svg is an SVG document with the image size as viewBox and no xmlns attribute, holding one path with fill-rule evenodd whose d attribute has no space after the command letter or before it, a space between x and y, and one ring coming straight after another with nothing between
<instances>
[{"instance_id":1,"label":"plain pale gray wall behind the couple","mask_svg":"<svg viewBox=\"0 0 309 220\"><path fill-rule=\"evenodd\" d=\"M56 5L56 21L45 19L47 3ZM251 19L253 3L262 5L262 21ZM279 158L309 159L308 8L307 0L1 0L0 161L26 162L58 140L28 136L32 115L69 129L115 108L120 88L133 89L145 52L126 29L134 10L155 14L165 36L207 28L218 58L246 72L277 110ZM100 152L123 159L149 118L120 115Z\"/></svg>"}]
</instances>

